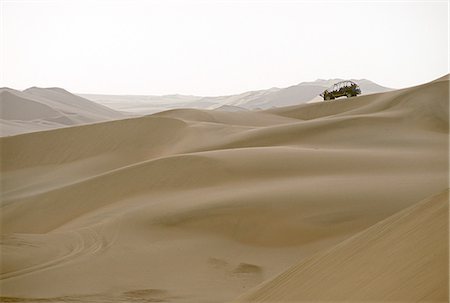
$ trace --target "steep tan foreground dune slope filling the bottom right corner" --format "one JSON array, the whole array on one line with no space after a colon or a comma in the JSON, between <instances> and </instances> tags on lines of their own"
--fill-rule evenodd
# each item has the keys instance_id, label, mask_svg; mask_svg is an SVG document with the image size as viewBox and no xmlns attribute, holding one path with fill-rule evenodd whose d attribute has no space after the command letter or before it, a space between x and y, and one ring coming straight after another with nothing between
<instances>
[{"instance_id":1,"label":"steep tan foreground dune slope filling the bottom right corner","mask_svg":"<svg viewBox=\"0 0 450 303\"><path fill-rule=\"evenodd\" d=\"M448 199L407 208L235 302L448 302Z\"/></svg>"}]
</instances>

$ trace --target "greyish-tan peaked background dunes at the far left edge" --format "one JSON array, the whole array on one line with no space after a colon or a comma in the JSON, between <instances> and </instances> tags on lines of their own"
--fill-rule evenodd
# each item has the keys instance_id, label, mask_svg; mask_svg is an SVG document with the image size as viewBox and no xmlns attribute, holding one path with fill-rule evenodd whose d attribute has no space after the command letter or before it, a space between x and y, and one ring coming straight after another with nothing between
<instances>
[{"instance_id":1,"label":"greyish-tan peaked background dunes at the far left edge","mask_svg":"<svg viewBox=\"0 0 450 303\"><path fill-rule=\"evenodd\" d=\"M1 136L123 117L123 113L61 88L0 88Z\"/></svg>"}]
</instances>

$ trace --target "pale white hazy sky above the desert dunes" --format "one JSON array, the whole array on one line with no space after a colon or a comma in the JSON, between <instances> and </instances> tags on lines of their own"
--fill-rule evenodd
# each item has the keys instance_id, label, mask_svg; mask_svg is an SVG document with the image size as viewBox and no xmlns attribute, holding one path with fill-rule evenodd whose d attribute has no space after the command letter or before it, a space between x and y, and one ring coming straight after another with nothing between
<instances>
[{"instance_id":1,"label":"pale white hazy sky above the desert dunes","mask_svg":"<svg viewBox=\"0 0 450 303\"><path fill-rule=\"evenodd\" d=\"M449 72L448 1L1 1L0 86L223 95Z\"/></svg>"}]
</instances>

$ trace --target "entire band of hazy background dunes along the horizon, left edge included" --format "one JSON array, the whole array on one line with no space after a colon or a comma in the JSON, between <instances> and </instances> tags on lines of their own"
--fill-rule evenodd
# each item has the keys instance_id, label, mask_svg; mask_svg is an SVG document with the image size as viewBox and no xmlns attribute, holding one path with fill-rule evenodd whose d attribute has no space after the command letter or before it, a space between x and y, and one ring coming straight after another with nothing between
<instances>
[{"instance_id":1,"label":"entire band of hazy background dunes along the horizon, left edge included","mask_svg":"<svg viewBox=\"0 0 450 303\"><path fill-rule=\"evenodd\" d=\"M287 88L271 88L219 97L90 94L77 96L57 87L31 87L24 91L0 88L0 136L115 120L169 109L196 108L236 112L298 105L306 101L322 100L319 94L340 80L319 79ZM369 80L355 81L358 81L364 94L391 90Z\"/></svg>"}]
</instances>

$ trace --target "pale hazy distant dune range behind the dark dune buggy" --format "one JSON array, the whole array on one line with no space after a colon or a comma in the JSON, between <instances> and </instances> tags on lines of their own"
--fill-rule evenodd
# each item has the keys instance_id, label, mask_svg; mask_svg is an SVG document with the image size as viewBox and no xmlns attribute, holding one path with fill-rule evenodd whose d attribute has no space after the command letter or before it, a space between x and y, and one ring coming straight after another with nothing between
<instances>
[{"instance_id":1,"label":"pale hazy distant dune range behind the dark dune buggy","mask_svg":"<svg viewBox=\"0 0 450 303\"><path fill-rule=\"evenodd\" d=\"M367 79L351 79L356 82L363 94L386 92L391 88L383 87ZM218 97L200 97L186 95L165 96L117 96L81 94L85 98L109 106L138 114L151 114L176 108L197 108L223 110L224 106L237 106L241 109L260 110L274 107L297 105L322 100L319 94L343 79L318 79L302 82L286 88L273 87L265 90L249 91L236 95Z\"/></svg>"}]
</instances>

